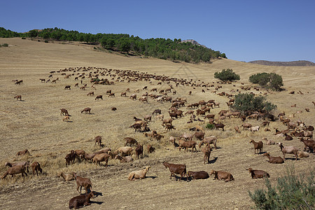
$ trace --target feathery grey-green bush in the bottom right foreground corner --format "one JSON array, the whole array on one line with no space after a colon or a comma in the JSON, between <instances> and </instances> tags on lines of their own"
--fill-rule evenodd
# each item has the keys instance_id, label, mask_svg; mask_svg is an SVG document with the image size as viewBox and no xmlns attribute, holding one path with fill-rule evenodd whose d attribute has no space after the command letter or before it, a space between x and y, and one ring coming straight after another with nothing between
<instances>
[{"instance_id":1,"label":"feathery grey-green bush in the bottom right foreground corner","mask_svg":"<svg viewBox=\"0 0 315 210\"><path fill-rule=\"evenodd\" d=\"M271 186L267 178L265 186L267 190L258 189L253 193L248 190L256 209L314 209L314 169L308 175L297 176L291 165L287 167L286 175L277 179L276 186Z\"/></svg>"}]
</instances>

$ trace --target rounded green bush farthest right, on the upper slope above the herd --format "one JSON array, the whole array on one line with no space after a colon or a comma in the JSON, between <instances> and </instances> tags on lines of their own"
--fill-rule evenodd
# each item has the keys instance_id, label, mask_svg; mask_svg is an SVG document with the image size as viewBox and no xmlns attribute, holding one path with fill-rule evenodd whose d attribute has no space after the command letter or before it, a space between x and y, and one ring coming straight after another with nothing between
<instances>
[{"instance_id":1,"label":"rounded green bush farthest right, on the upper slope above the herd","mask_svg":"<svg viewBox=\"0 0 315 210\"><path fill-rule=\"evenodd\" d=\"M258 84L272 90L281 90L283 86L282 77L276 73L256 73L249 77L249 82Z\"/></svg>"}]
</instances>

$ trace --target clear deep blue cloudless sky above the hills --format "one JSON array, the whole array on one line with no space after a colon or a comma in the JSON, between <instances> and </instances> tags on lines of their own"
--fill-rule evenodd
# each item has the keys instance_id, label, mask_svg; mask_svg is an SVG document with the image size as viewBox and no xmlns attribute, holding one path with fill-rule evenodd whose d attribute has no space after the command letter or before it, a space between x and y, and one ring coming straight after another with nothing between
<instances>
[{"instance_id":1,"label":"clear deep blue cloudless sky above the hills","mask_svg":"<svg viewBox=\"0 0 315 210\"><path fill-rule=\"evenodd\" d=\"M0 1L0 27L192 38L229 59L315 62L315 1Z\"/></svg>"}]
</instances>

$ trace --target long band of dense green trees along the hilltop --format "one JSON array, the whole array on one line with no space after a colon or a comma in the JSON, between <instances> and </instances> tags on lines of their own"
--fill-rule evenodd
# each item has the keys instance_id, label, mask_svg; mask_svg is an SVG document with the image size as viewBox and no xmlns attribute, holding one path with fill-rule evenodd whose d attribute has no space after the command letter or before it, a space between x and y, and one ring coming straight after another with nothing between
<instances>
[{"instance_id":1,"label":"long band of dense green trees along the hilltop","mask_svg":"<svg viewBox=\"0 0 315 210\"><path fill-rule=\"evenodd\" d=\"M204 48L193 43L182 43L181 38L140 38L129 34L86 34L65 29L47 28L31 30L27 33L18 33L0 28L0 37L41 37L55 41L80 41L85 43L100 44L106 50L119 52L134 52L135 55L145 57L158 57L172 61L183 62L210 62L216 57L225 57L225 53Z\"/></svg>"}]
</instances>

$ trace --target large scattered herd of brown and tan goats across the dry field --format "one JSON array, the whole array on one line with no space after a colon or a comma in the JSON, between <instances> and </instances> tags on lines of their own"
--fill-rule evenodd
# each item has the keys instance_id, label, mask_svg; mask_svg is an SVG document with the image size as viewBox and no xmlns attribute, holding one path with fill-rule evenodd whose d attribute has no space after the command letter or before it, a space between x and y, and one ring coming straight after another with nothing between
<instances>
[{"instance_id":1,"label":"large scattered herd of brown and tan goats across the dry field","mask_svg":"<svg viewBox=\"0 0 315 210\"><path fill-rule=\"evenodd\" d=\"M64 79L67 80L71 77L74 77L75 81L78 81L80 79L80 82L73 85L74 87L80 87L81 90L85 90L87 88L87 84L83 84L84 79L89 79L91 83L91 88L96 90L97 85L114 85L115 83L132 83L137 81L147 81L149 84L153 83L153 80L158 81L158 85L166 84L167 88L164 88L158 92L158 88L151 88L149 91L148 86L144 86L141 88L138 88L137 90L134 90L135 93L130 93L130 88L127 88L124 92L120 93L120 97L128 98L132 101L136 101L137 99L139 102L142 102L144 104L148 104L150 100L153 100L154 102L159 103L169 103L169 111L168 113L162 113L161 109L155 109L153 113L148 114L146 116L143 116L143 119L134 117L134 124L130 125L130 128L134 129L134 132L143 132L144 136L151 141L155 140L157 142L160 142L161 139L165 138L165 135L162 133L158 133L156 130L151 131L151 128L149 127L150 123L153 120L160 120L161 127L165 130L165 132L169 132L171 130L176 130L176 127L174 126L174 120L178 120L179 118L183 118L184 116L190 116L189 123L199 123L198 125L194 125L191 127L188 131L189 132L183 132L180 137L169 137L169 142L174 146L174 148L178 148L179 151L183 149L184 151L188 151L188 149L191 150L193 153L194 151L197 151L196 146L198 145L203 153L203 163L207 164L210 162L210 155L212 149L217 149L217 141L218 138L215 136L209 136L206 137L205 127L202 126L204 123L209 123L214 126L216 130L221 129L222 132L225 132L225 125L221 123L223 120L229 120L231 118L239 118L242 121L241 125L237 125L234 127L235 132L240 133L242 130L240 127L243 127L243 130L250 130L251 132L259 132L260 127L265 127L265 132L271 132L269 129L269 122L270 121L276 121L279 120L283 125L287 126L286 130L279 131L276 129L275 135L277 137L283 137L284 140L290 141L293 139L293 137L300 138L300 141L304 144L304 151L301 151L294 146L283 146L282 143L279 143L279 148L281 153L283 153L283 158L279 157L272 157L269 153L263 153L263 142L262 141L254 141L251 140L250 143L253 144L254 147L254 154L256 154L256 151L258 154L262 154L263 156L267 156L269 159L268 162L270 163L283 163L286 158L286 154L293 154L295 155L295 160L297 158L307 158L309 157L309 153L314 153L315 149L315 141L313 140L313 130L314 127L311 125L305 125L304 122L301 120L297 120L295 122L292 122L290 118L286 118L286 114L279 113L278 116L274 116L271 113L259 113L259 112L246 112L241 113L237 111L231 111L228 110L221 110L218 112L218 115L216 116L214 113L210 113L211 109L220 109L220 106L222 104L216 102L214 99L207 99L207 100L201 100L199 102L194 102L188 104L186 97L172 97L169 96L169 94L172 94L173 96L176 95L176 87L179 87L180 85L186 85L191 86L194 89L196 87L201 87L202 92L205 92L205 90L211 90L212 87L214 90L211 91L214 94L218 94L222 97L227 97L228 102L226 103L229 106L231 106L234 102L234 95L233 93L239 92L240 90L230 90L229 92L218 92L220 90L224 83L217 82L217 85L215 83L203 83L194 80L188 80L183 78L172 78L169 76L158 76L155 74L150 73L144 73L139 71L131 71L131 70L118 70L118 69L104 69L104 68L94 68L94 67L77 67L77 68L69 68L69 69L61 69L59 71L50 71L50 76L48 76L48 80L40 79L41 83L57 83L59 81L59 77L52 79L55 77L56 74L59 73L59 76L64 76ZM107 78L105 78L107 77ZM111 78L111 79L109 79ZM22 80L13 80L16 85L23 85ZM242 83L242 85L244 85ZM175 86L175 87L174 87ZM233 85L235 86L235 85ZM251 90L250 87L241 86L241 90ZM71 90L71 85L66 85L64 87L64 91ZM137 95L139 92L143 90L146 91L141 96ZM255 87L255 90L259 90L257 87ZM150 92L150 93L148 93ZM130 94L130 97L127 97L127 94ZM188 93L192 94L190 91ZM254 94L251 92L251 94ZM291 93L292 94L292 93ZM106 95L108 97L116 97L116 94L112 92L112 90L107 90ZM88 97L94 97L94 91L89 92L87 94ZM17 100L22 100L21 95L17 95L14 97ZM103 95L99 94L94 99L96 100L103 100ZM315 103L313 102L314 106ZM184 113L181 109L187 109L187 111ZM112 107L112 111L117 111L116 107ZM306 109L306 111L309 111L309 109ZM90 113L91 108L87 107L81 111L81 113ZM64 121L70 121L70 114L69 111L62 108L60 109L60 116L63 116ZM167 117L169 116L169 117ZM248 120L246 119L255 119L255 120L262 120L261 125L251 125L248 123ZM246 122L245 122L246 121ZM192 124L193 125L193 124ZM193 131L194 133L191 134L190 131ZM134 161L134 158L139 159L143 158L144 155L144 145L140 144L136 139L132 137L125 137L125 145L121 146L120 148L117 148L116 150L112 150L111 148L102 148L100 151L96 151L94 153L86 153L83 150L71 150L70 153L66 154L65 156L65 162L66 166L70 165L71 163L74 163L76 159L81 161L89 161L92 163L95 163L95 166L101 165L101 162L104 162L104 166L108 167L109 160L120 160L120 162L132 162ZM271 145L276 144L272 139L264 138L262 139L266 141L265 144ZM205 145L204 147L202 147ZM213 145L213 147L211 146ZM97 136L94 137L94 146L104 147L102 144L102 137ZM155 148L148 144L147 147L147 153L151 154L155 151ZM306 152L308 151L308 153ZM21 151L16 154L17 156L20 155L30 155L29 151ZM134 157L133 157L134 155ZM188 171L186 172L186 165L181 164L172 164L168 162L163 162L163 165L169 169L171 172L170 179L172 179L172 176L177 180L177 176L175 174L179 174L181 176L179 180L183 179L183 176L186 176L186 180L189 181L190 177L193 177L193 179L207 179L209 176L213 175L214 179L218 180L224 180L224 181L233 181L235 180L229 172L223 172L223 171L214 171L211 170L211 172L208 174L205 171L200 172L192 172ZM9 167L8 171L3 174L1 177L2 179L5 179L7 175L15 176L15 174L22 174L22 176L27 176L27 172L29 172L29 166L31 169L33 169L33 174L36 173L38 175L38 172L42 172L41 166L38 162L33 162L30 164L30 162L17 162L17 163L10 163L7 162L6 166ZM141 169L139 171L130 172L127 179L130 181L138 180L138 179L144 179L146 178L146 174L148 173L148 170L151 167L145 167L144 169ZM265 171L258 170L258 169L246 169L251 174L251 177L253 179L260 179L263 177L269 177L269 174ZM73 197L69 202L69 208L77 209L78 207L82 207L85 205L90 204L90 199L94 197L95 192L92 191L92 182L90 179L83 178L81 176L76 175L75 172L72 172L71 174L65 174L63 172L59 173L59 176L64 179L64 181L71 181L76 180L77 183L77 190L80 188L80 191L78 190L78 193L81 193L81 188L85 188L86 193L84 195L79 195L77 197Z\"/></svg>"}]
</instances>

